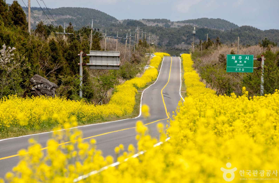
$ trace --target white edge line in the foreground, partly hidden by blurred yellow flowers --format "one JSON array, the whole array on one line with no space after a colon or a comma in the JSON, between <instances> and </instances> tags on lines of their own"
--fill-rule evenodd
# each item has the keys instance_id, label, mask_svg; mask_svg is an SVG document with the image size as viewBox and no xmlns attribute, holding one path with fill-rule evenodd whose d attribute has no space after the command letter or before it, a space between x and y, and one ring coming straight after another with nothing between
<instances>
[{"instance_id":1,"label":"white edge line in the foreground, partly hidden by blurred yellow flowers","mask_svg":"<svg viewBox=\"0 0 279 183\"><path fill-rule=\"evenodd\" d=\"M166 138L165 142L167 142L169 139L170 139L170 137ZM159 145L161 145L161 144L163 144L163 142L159 142L159 143L153 145L153 147L155 148L155 147L157 147L157 146L159 146ZM146 150L140 151L139 153L134 154L134 155L132 155L131 157L126 158L123 162L128 161L130 158L136 158L136 157L138 157L139 155L142 155L142 154L144 154L144 153L146 153ZM94 170L94 171L92 171L92 172L90 172L90 173L88 173L88 174L81 175L81 176L79 176L78 178L75 178L73 182L78 182L78 181L80 181L80 180L82 180L82 179L86 179L86 178L90 177L91 175L95 175L95 174L100 173L100 172L102 172L102 171L104 171L104 170L107 170L109 167L116 167L117 165L120 165L120 163L122 163L122 162L117 161L117 162L115 162L115 163L112 163L112 164L110 164L110 165L107 165L107 166L105 166L105 167L102 167L100 170Z\"/></svg>"}]
</instances>

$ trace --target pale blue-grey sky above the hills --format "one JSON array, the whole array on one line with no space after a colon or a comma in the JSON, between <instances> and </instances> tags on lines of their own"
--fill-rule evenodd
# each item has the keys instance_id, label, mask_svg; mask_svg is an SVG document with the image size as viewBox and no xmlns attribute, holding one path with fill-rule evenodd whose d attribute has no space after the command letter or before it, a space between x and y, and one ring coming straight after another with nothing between
<instances>
[{"instance_id":1,"label":"pale blue-grey sky above the hills","mask_svg":"<svg viewBox=\"0 0 279 183\"><path fill-rule=\"evenodd\" d=\"M13 0L6 0L11 4ZM23 6L24 1L18 0ZM42 7L43 2L39 1ZM166 18L181 21L195 18L221 18L238 26L261 30L279 29L279 0L44 0L48 8L84 7L97 9L118 20ZM38 7L36 0L31 6Z\"/></svg>"}]
</instances>

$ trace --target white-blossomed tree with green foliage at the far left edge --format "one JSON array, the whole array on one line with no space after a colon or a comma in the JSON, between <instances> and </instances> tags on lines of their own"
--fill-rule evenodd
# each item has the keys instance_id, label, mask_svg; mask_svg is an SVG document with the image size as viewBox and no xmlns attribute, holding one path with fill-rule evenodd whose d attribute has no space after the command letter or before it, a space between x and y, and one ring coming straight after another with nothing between
<instances>
[{"instance_id":1,"label":"white-blossomed tree with green foliage at the far left edge","mask_svg":"<svg viewBox=\"0 0 279 183\"><path fill-rule=\"evenodd\" d=\"M4 44L0 50L0 96L1 98L6 94L17 94L20 89L19 83L22 81L20 77L20 59L14 59L13 51L16 48L6 47ZM13 92L11 92L11 90Z\"/></svg>"}]
</instances>

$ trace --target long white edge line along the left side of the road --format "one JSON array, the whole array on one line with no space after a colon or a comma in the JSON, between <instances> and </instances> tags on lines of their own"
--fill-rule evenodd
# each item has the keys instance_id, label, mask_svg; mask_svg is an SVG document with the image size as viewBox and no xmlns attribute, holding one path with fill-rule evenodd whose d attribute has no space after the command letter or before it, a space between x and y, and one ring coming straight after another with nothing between
<instances>
[{"instance_id":1,"label":"long white edge line along the left side of the road","mask_svg":"<svg viewBox=\"0 0 279 183\"><path fill-rule=\"evenodd\" d=\"M155 81L153 84L155 84L155 83L157 82L158 78L159 78L160 71L161 71L162 65L163 65L163 61L164 61L164 57L163 57L163 60L162 60L161 68L160 68L160 70L159 70L159 74L158 74L158 76L157 76L157 79L156 79L156 81ZM180 72L181 72L181 70L180 70ZM181 74L180 74L180 75L181 75ZM181 77L180 77L180 79L181 79ZM153 84L151 84L149 87L151 87ZM180 86L181 86L181 84L180 84ZM147 87L146 89L148 89L149 87ZM146 89L144 89L143 92L144 92ZM143 92L142 92L142 96L143 96ZM140 98L139 116L142 115L142 110L141 110L141 109L142 109L142 96L141 96L141 98ZM139 116L137 116L137 117L135 117L135 118L120 119L120 120L117 120L117 121L124 121L124 120L128 120L128 119L136 119L136 118L138 118ZM95 123L95 124L89 124L89 125L84 125L84 126L77 126L77 127L73 127L73 128L81 128L81 127L86 127L86 126L100 125L100 124L112 123L112 122L117 122L117 121L109 121L109 122L104 122L104 123ZM73 129L73 128L61 129L61 130L57 130L57 131L69 130L69 129ZM30 134L30 135L23 135L23 136L19 136L19 137L6 138L6 139L0 140L0 142L1 142L1 141L4 141L4 140L14 139L14 138L28 137L28 136L40 135L40 134L46 134L46 133L52 133L52 132L55 132L55 131L49 131L49 132L44 132L44 133L36 133L36 134Z\"/></svg>"}]
</instances>

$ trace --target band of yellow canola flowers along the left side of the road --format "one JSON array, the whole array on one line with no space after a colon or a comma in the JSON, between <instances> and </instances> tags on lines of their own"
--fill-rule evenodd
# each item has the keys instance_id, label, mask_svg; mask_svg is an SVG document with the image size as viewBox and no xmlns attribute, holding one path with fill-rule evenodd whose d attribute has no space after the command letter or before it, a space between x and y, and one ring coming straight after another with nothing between
<instances>
[{"instance_id":1,"label":"band of yellow canola flowers along the left side of the road","mask_svg":"<svg viewBox=\"0 0 279 183\"><path fill-rule=\"evenodd\" d=\"M0 133L7 133L11 127L43 129L44 126L56 126L61 123L57 119L60 113L67 117L76 116L80 124L130 114L135 106L137 89L144 88L147 83L157 78L157 69L162 58L160 56L152 58L150 65L154 68L147 69L142 77L133 78L116 86L110 102L105 105L93 105L83 100L73 101L59 97L4 97L0 99Z\"/></svg>"}]
</instances>

